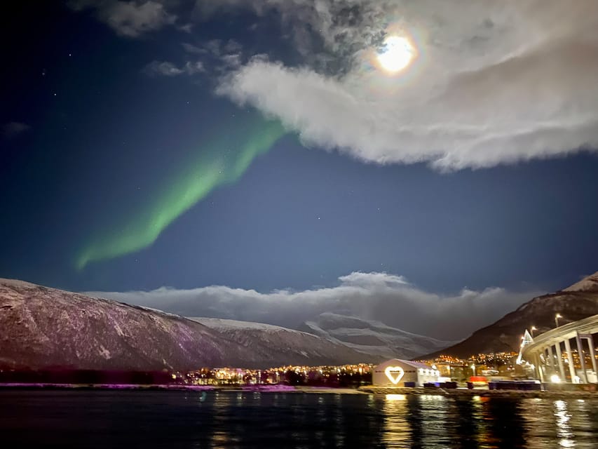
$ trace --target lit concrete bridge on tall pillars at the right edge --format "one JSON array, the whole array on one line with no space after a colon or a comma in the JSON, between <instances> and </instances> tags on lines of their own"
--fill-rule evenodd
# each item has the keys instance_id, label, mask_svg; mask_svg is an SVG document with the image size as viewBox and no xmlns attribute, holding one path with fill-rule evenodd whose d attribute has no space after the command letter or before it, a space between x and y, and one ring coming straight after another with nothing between
<instances>
[{"instance_id":1,"label":"lit concrete bridge on tall pillars at the right edge","mask_svg":"<svg viewBox=\"0 0 598 449\"><path fill-rule=\"evenodd\" d=\"M598 333L598 315L588 316L548 330L529 339L529 342L522 343L521 356L534 365L541 382L551 380L552 382L597 383L598 369L592 338L592 334L595 333ZM574 340L580 370L576 370L571 340ZM566 355L565 360L563 354ZM590 355L591 367L585 363L585 354ZM569 373L566 373L565 366L568 366ZM591 371L588 368L591 368Z\"/></svg>"}]
</instances>

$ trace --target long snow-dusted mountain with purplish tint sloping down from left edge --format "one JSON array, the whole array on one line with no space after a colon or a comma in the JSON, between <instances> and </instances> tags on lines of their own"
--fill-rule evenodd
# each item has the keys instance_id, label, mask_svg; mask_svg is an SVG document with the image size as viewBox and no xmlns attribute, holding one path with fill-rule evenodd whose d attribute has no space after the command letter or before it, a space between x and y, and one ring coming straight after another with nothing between
<instances>
[{"instance_id":1,"label":"long snow-dusted mountain with purplish tint sloping down from left edge","mask_svg":"<svg viewBox=\"0 0 598 449\"><path fill-rule=\"evenodd\" d=\"M0 279L0 329L0 368L149 371L370 361L342 344L276 326L203 324L7 279Z\"/></svg>"}]
</instances>

